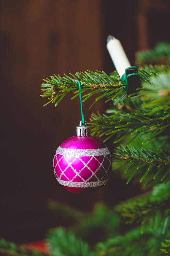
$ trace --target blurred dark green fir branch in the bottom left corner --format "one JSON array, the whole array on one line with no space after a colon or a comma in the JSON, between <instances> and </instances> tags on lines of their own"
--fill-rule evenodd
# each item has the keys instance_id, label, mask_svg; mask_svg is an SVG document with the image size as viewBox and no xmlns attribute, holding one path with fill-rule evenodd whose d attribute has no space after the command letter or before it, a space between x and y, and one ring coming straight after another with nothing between
<instances>
[{"instance_id":1,"label":"blurred dark green fir branch in the bottom left corner","mask_svg":"<svg viewBox=\"0 0 170 256\"><path fill-rule=\"evenodd\" d=\"M38 250L28 250L24 246L16 245L13 242L8 242L5 239L0 239L0 254L3 256L47 256Z\"/></svg>"}]
</instances>

